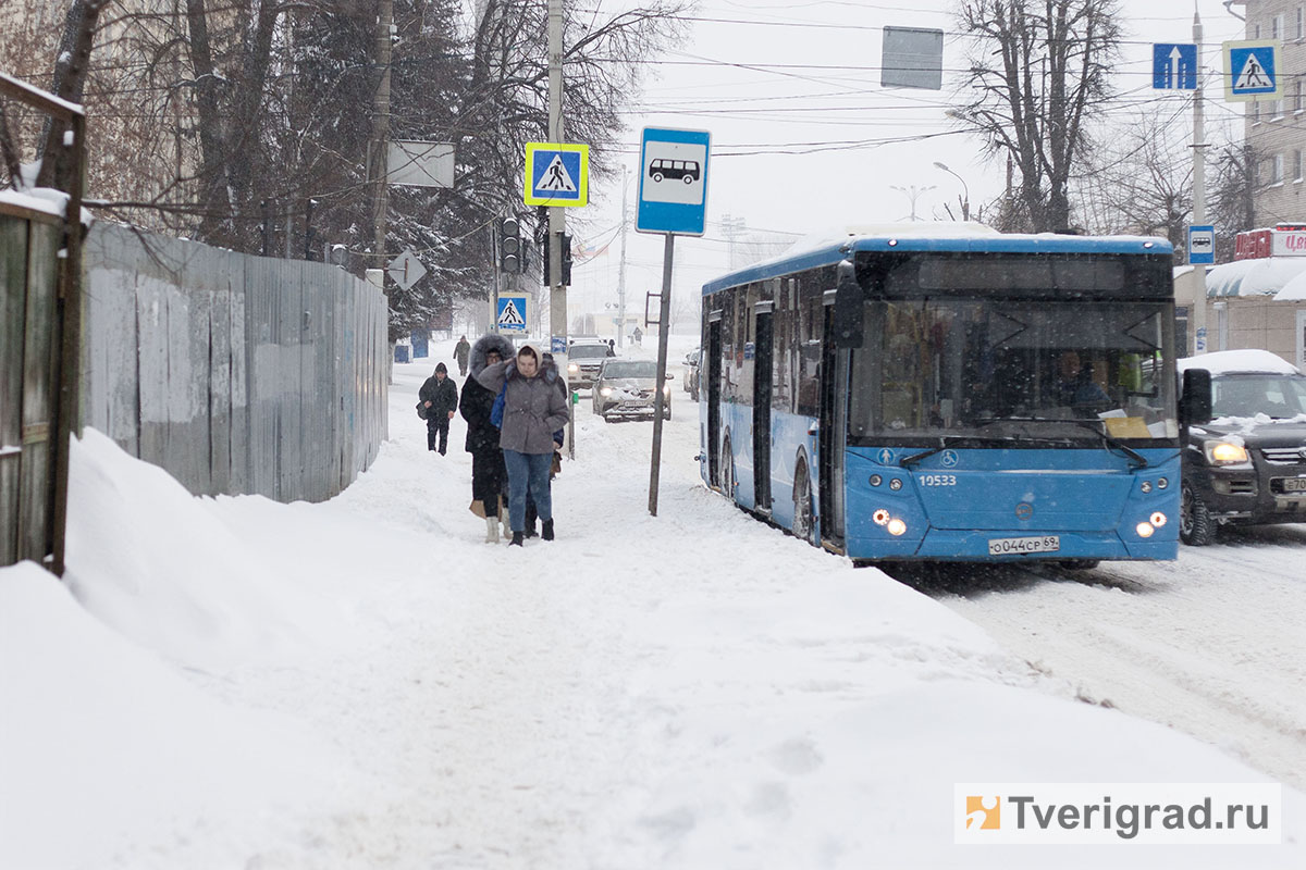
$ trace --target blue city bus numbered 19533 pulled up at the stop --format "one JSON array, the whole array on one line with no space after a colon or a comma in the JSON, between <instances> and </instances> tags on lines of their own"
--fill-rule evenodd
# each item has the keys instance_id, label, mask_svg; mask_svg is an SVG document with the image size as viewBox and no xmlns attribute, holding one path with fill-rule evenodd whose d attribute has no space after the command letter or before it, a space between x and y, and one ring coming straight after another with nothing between
<instances>
[{"instance_id":1,"label":"blue city bus numbered 19533 pulled up at the stop","mask_svg":"<svg viewBox=\"0 0 1306 870\"><path fill-rule=\"evenodd\" d=\"M703 288L703 479L875 561L1173 560L1173 249L946 224Z\"/></svg>"}]
</instances>

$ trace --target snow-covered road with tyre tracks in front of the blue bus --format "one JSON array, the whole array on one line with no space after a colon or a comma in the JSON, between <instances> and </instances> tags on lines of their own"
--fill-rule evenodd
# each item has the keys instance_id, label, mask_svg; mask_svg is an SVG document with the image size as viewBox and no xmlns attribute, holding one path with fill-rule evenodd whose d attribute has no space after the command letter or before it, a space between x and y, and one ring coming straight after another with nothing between
<instances>
[{"instance_id":1,"label":"snow-covered road with tyre tracks in front of the blue bus","mask_svg":"<svg viewBox=\"0 0 1306 870\"><path fill-rule=\"evenodd\" d=\"M902 577L1084 698L1306 788L1306 524L1230 530L1173 563Z\"/></svg>"}]
</instances>

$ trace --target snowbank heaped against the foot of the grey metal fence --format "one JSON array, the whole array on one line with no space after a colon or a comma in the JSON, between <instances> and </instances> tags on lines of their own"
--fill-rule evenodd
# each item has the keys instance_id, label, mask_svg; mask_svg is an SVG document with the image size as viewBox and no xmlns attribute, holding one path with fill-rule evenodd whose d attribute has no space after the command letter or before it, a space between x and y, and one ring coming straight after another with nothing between
<instances>
[{"instance_id":1,"label":"snowbank heaped against the foot of the grey metal fence","mask_svg":"<svg viewBox=\"0 0 1306 870\"><path fill-rule=\"evenodd\" d=\"M274 567L263 548L222 522L214 500L192 498L167 472L94 429L78 447L67 580L104 623L200 669L294 659L341 630L330 605L304 588L312 569ZM276 533L263 535L274 549Z\"/></svg>"}]
</instances>

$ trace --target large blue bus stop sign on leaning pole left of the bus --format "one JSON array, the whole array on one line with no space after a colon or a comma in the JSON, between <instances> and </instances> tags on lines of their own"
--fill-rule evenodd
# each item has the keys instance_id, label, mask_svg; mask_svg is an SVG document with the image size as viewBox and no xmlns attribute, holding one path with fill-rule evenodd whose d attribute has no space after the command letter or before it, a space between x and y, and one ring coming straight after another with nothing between
<instances>
[{"instance_id":1,"label":"large blue bus stop sign on leaning pole left of the bus","mask_svg":"<svg viewBox=\"0 0 1306 870\"><path fill-rule=\"evenodd\" d=\"M636 231L703 235L710 146L712 134L707 130L644 128Z\"/></svg>"}]
</instances>

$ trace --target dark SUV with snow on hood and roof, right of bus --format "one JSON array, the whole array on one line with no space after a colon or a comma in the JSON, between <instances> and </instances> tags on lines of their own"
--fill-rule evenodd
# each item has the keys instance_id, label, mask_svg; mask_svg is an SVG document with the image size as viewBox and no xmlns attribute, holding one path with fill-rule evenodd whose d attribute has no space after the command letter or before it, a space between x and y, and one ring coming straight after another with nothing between
<instances>
[{"instance_id":1,"label":"dark SUV with snow on hood and roof, right of bus","mask_svg":"<svg viewBox=\"0 0 1306 870\"><path fill-rule=\"evenodd\" d=\"M1204 545L1226 523L1306 522L1306 376L1269 351L1179 360L1211 372L1211 421L1188 427L1179 537Z\"/></svg>"}]
</instances>

